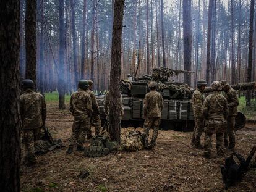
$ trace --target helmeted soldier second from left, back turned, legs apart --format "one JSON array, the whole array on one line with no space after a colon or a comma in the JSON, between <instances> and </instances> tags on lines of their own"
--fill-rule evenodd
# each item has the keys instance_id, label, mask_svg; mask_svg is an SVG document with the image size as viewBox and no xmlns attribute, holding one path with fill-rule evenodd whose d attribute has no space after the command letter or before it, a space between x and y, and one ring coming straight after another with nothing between
<instances>
[{"instance_id":1,"label":"helmeted soldier second from left, back turned, legs apart","mask_svg":"<svg viewBox=\"0 0 256 192\"><path fill-rule=\"evenodd\" d=\"M80 80L79 89L70 98L69 111L74 116L72 134L69 139L67 154L71 154L74 144L77 144L77 151L83 151L85 136L90 128L90 117L92 115L92 99L87 93L89 84L87 80Z\"/></svg>"}]
</instances>

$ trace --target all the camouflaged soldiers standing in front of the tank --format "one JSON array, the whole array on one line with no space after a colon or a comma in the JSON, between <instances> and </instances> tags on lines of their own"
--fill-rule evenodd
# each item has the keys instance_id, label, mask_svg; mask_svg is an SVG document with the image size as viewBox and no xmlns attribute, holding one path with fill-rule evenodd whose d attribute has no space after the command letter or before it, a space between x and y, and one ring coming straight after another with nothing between
<instances>
[{"instance_id":1,"label":"all the camouflaged soldiers standing in front of the tank","mask_svg":"<svg viewBox=\"0 0 256 192\"><path fill-rule=\"evenodd\" d=\"M192 144L195 148L203 148L200 138L205 133L204 156L211 156L211 138L216 134L216 147L219 155L224 154L224 143L231 151L235 148L234 124L239 105L238 96L226 81L214 81L211 84L213 93L203 99L203 90L207 86L205 80L198 80L192 103L195 117L195 129L192 136ZM158 129L160 126L161 111L163 110L163 97L156 91L157 84L154 81L148 83L150 91L143 100L144 131L143 143L145 146L156 145ZM92 91L93 81L80 80L78 90L72 93L69 111L74 116L72 133L69 139L67 154L73 152L76 145L77 151L83 151L85 138L92 138L91 127L95 127L95 135L100 134L101 120L100 109ZM35 141L39 139L41 127L45 126L46 104L40 93L36 93L32 80L22 81L23 94L20 96L20 112L22 115L22 142L25 146L25 165L33 165L36 162ZM220 94L223 90L226 98ZM107 122L109 120L110 106L109 91L105 94L104 111ZM124 114L122 98L119 98L120 115ZM149 130L153 129L151 142L148 142ZM225 135L225 136L224 136ZM228 142L229 138L229 142ZM229 143L229 144L228 144Z\"/></svg>"}]
</instances>

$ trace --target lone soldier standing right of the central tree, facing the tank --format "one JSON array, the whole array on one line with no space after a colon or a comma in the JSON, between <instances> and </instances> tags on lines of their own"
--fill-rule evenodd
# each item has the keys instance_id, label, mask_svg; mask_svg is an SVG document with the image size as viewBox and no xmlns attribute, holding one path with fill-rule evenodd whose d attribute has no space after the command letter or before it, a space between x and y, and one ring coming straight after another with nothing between
<instances>
[{"instance_id":1,"label":"lone soldier standing right of the central tree, facing the tank","mask_svg":"<svg viewBox=\"0 0 256 192\"><path fill-rule=\"evenodd\" d=\"M143 112L144 112L144 135L145 145L148 145L148 136L150 128L153 128L151 144L156 145L158 136L158 128L160 125L161 111L163 110L163 97L156 91L157 84L155 82L148 83L150 92L145 95Z\"/></svg>"}]
</instances>

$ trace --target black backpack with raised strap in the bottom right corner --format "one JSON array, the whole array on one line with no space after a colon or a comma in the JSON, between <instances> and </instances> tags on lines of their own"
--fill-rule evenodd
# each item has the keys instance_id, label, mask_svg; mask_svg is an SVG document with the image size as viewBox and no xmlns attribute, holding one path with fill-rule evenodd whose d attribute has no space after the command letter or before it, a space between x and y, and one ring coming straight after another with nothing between
<instances>
[{"instance_id":1,"label":"black backpack with raised strap in the bottom right corner","mask_svg":"<svg viewBox=\"0 0 256 192\"><path fill-rule=\"evenodd\" d=\"M236 152L232 153L225 159L224 166L221 167L221 175L226 189L228 189L229 186L235 185L242 178L242 175L247 171L249 167L250 161L252 156L254 156L255 151L256 146L252 148L252 151L250 151L250 154L246 160L241 154ZM239 164L236 163L234 157L238 159Z\"/></svg>"}]
</instances>

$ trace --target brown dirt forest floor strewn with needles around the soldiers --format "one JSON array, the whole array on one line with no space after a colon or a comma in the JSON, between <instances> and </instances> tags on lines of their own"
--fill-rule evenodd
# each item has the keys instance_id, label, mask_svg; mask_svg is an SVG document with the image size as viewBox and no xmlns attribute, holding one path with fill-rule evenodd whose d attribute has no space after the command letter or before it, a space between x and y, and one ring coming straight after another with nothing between
<instances>
[{"instance_id":1,"label":"brown dirt forest floor strewn with needles around the soldiers","mask_svg":"<svg viewBox=\"0 0 256 192\"><path fill-rule=\"evenodd\" d=\"M220 173L223 158L203 158L202 149L190 146L192 133L160 130L152 151L120 151L98 158L83 157L77 151L67 155L72 115L57 107L48 105L46 125L66 147L38 156L35 167L22 164L22 191L225 191ZM130 129L122 128L122 134ZM256 125L247 124L237 131L236 138L237 151L247 156L256 144ZM90 174L82 179L79 174L83 170ZM240 183L227 191L255 189L256 170L249 170Z\"/></svg>"}]
</instances>

